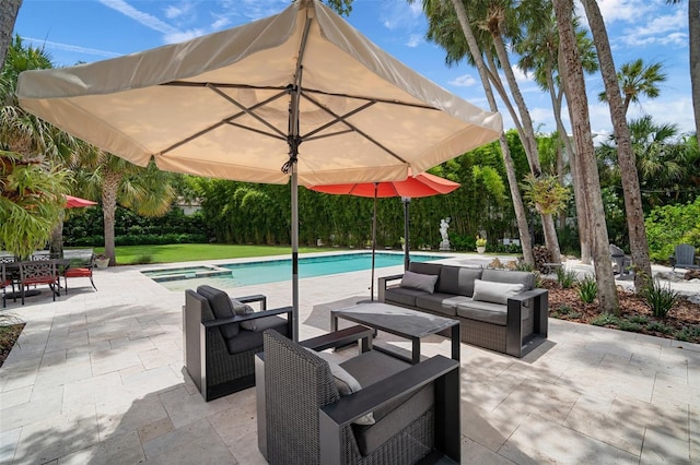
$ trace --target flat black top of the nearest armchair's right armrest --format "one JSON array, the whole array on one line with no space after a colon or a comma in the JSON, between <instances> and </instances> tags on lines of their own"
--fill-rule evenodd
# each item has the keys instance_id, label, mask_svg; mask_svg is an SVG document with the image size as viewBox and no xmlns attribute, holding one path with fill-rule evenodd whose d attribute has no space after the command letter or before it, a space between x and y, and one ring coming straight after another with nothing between
<instances>
[{"instance_id":1,"label":"flat black top of the nearest armchair's right armrest","mask_svg":"<svg viewBox=\"0 0 700 465\"><path fill-rule=\"evenodd\" d=\"M410 394L436 379L459 369L459 362L438 355L413 365L404 371L377 383L363 388L340 401L320 407L320 430L324 426L334 429L350 425L352 421L380 408L396 397Z\"/></svg>"}]
</instances>

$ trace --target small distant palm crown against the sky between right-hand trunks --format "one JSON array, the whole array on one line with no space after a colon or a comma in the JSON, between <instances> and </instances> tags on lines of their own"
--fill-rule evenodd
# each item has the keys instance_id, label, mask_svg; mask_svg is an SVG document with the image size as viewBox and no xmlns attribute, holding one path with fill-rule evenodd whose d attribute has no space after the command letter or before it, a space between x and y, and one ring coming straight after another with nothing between
<instances>
[{"instance_id":1,"label":"small distant palm crown against the sky between right-hand trunks","mask_svg":"<svg viewBox=\"0 0 700 465\"><path fill-rule=\"evenodd\" d=\"M651 63L644 65L644 60L637 59L625 63L620 67L620 71L617 73L617 80L620 83L625 102L625 115L632 102L638 103L639 97L644 95L649 98L658 97L660 82L666 81L666 73L661 71L661 63ZM602 92L598 94L600 102L608 102L607 93Z\"/></svg>"}]
</instances>

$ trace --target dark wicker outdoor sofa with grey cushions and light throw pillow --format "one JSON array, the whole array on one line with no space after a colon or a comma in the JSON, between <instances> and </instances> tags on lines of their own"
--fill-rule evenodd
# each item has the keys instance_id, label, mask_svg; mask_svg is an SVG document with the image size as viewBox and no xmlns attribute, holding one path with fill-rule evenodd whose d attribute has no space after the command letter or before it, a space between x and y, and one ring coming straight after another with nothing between
<instances>
[{"instance_id":1,"label":"dark wicker outdoor sofa with grey cushions and light throw pillow","mask_svg":"<svg viewBox=\"0 0 700 465\"><path fill-rule=\"evenodd\" d=\"M462 342L523 357L547 339L549 294L529 272L412 262L378 279L378 299L459 320Z\"/></svg>"}]
</instances>

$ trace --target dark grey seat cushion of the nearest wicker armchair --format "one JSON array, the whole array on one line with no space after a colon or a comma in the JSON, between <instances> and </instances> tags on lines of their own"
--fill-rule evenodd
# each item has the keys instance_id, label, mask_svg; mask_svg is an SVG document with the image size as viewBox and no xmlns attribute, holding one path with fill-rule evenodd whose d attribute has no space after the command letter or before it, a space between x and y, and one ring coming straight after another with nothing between
<instances>
[{"instance_id":1,"label":"dark grey seat cushion of the nearest wicker armchair","mask_svg":"<svg viewBox=\"0 0 700 465\"><path fill-rule=\"evenodd\" d=\"M370 350L340 363L363 386L369 386L410 367L395 357ZM353 425L354 437L362 455L374 452L412 420L428 410L434 400L433 384L397 397L373 412L374 425Z\"/></svg>"}]
</instances>

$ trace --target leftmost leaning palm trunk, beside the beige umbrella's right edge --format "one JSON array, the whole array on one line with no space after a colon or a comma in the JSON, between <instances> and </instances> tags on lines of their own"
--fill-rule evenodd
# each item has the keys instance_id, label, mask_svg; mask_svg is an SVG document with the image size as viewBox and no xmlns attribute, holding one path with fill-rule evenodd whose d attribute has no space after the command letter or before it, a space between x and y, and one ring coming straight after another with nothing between
<instances>
[{"instance_id":1,"label":"leftmost leaning palm trunk, beside the beige umbrella's right edge","mask_svg":"<svg viewBox=\"0 0 700 465\"><path fill-rule=\"evenodd\" d=\"M479 46L477 45L477 39L474 36L471 26L469 25L467 11L464 8L464 3L459 0L452 0L452 4L455 9L455 13L457 13L462 31L464 32L467 45L469 46L469 52L474 58L477 70L479 71L479 78L481 78L483 92L486 94L487 100L489 102L489 109L491 111L498 111L499 108L495 103L495 98L493 97L493 91L491 90L491 83L489 81L486 64L483 63L483 58L481 56L481 51L479 50ZM499 138L499 144L501 145L501 154L503 155L503 163L505 164L508 181L511 188L511 196L513 198L513 210L515 211L517 233L520 235L521 246L523 248L523 259L526 263L534 265L535 255L533 254L533 243L529 238L527 214L525 212L525 205L523 204L523 199L521 196L520 187L517 186L517 177L515 176L515 167L513 165L513 158L511 157L511 151L509 150L508 141L504 134L501 134L501 136Z\"/></svg>"}]
</instances>

